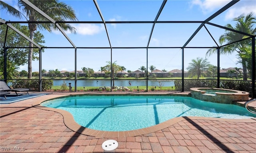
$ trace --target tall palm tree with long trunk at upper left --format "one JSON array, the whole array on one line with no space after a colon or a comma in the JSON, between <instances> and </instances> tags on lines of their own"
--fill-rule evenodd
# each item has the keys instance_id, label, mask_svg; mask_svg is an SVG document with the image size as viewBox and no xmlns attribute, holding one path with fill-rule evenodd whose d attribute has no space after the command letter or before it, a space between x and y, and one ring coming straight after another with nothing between
<instances>
[{"instance_id":1,"label":"tall palm tree with long trunk at upper left","mask_svg":"<svg viewBox=\"0 0 256 153\"><path fill-rule=\"evenodd\" d=\"M64 20L71 20L77 21L75 11L73 8L64 2L59 2L58 0L30 0L36 7L40 10L45 12L48 16L50 16L55 21L64 21ZM14 7L6 4L5 2L1 1L0 8L5 9L7 13L17 18L22 18L24 16L28 23L28 28L30 31L29 38L34 40L34 31L38 29L40 30L48 30L52 32L53 30L58 30L58 27L54 24L37 24L32 23L35 21L49 21L47 18L39 14L36 10L28 6L21 0L18 0L18 7L20 10L23 10L23 13L19 10L16 10ZM76 33L76 29L72 27L70 24L59 24L63 30L69 30L72 33ZM30 42L29 43L29 53L28 53L28 78L32 77L32 56L33 56L33 47L34 45Z\"/></svg>"}]
</instances>

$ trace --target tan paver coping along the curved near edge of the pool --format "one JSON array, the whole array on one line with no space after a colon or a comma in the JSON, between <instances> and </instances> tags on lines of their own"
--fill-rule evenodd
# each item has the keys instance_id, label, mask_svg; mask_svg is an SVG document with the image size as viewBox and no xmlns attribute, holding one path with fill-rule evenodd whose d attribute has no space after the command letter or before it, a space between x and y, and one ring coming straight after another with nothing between
<instances>
[{"instance_id":1,"label":"tan paver coping along the curved near edge of the pool","mask_svg":"<svg viewBox=\"0 0 256 153\"><path fill-rule=\"evenodd\" d=\"M68 111L64 111L61 109L55 109L55 108L50 108L50 107L44 107L40 105L40 103L58 98L58 97L64 97L68 96L67 95L44 95L41 96L42 98L39 101L36 101L35 103L32 103L32 106L38 109L44 109L48 111L54 111L57 113L60 113L63 116L64 124L66 127L71 129L72 131L81 133L83 135L89 135L89 136L95 136L95 137L104 137L104 138L114 138L114 137L132 137L132 136L139 136L139 135L144 135L152 132L156 132L165 128L170 127L171 125L174 125L175 123L178 123L180 121L184 120L213 120L213 121L226 121L226 122L241 122L241 123L256 123L256 118L253 119L222 119L222 118L211 118L211 117L176 117L173 119L169 119L168 121L165 121L163 123L160 123L158 125L154 125L151 127L146 127L143 129L136 129L136 130L131 130L131 131L99 131L99 130L94 130L94 129L89 129L86 127L82 127L76 121L74 121L74 118L71 113ZM190 122L190 121L189 121Z\"/></svg>"}]
</instances>

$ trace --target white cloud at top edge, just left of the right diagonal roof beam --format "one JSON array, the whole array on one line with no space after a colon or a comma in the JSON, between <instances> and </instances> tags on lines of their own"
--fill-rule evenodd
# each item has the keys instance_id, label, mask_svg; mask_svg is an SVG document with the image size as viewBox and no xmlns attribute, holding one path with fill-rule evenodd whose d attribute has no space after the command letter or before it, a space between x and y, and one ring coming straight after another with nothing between
<instances>
[{"instance_id":1,"label":"white cloud at top edge, just left of the right diagonal roof beam","mask_svg":"<svg viewBox=\"0 0 256 153\"><path fill-rule=\"evenodd\" d=\"M199 6L204 14L208 14L216 9L220 9L230 0L192 0L192 6Z\"/></svg>"}]
</instances>

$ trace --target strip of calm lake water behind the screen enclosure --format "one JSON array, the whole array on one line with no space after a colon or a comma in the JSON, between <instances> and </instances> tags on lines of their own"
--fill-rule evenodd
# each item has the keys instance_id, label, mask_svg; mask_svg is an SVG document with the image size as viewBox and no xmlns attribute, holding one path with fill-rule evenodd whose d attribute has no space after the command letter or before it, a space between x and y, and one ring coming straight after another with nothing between
<instances>
[{"instance_id":1,"label":"strip of calm lake water behind the screen enclosure","mask_svg":"<svg viewBox=\"0 0 256 153\"><path fill-rule=\"evenodd\" d=\"M71 86L75 85L74 80L53 80L54 86L60 86L63 81L67 85L71 83ZM130 84L129 84L130 81ZM110 87L110 80L77 80L78 87ZM113 85L113 84L112 84ZM114 80L115 86L146 86L146 80ZM162 87L171 87L175 86L173 80L148 80L148 86L162 86Z\"/></svg>"}]
</instances>

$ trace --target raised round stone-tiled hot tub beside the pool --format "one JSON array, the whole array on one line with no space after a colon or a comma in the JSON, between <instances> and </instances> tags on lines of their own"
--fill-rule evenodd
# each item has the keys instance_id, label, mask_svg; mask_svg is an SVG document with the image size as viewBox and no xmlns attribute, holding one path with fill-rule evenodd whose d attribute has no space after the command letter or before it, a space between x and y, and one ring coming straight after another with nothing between
<instances>
[{"instance_id":1,"label":"raised round stone-tiled hot tub beside the pool","mask_svg":"<svg viewBox=\"0 0 256 153\"><path fill-rule=\"evenodd\" d=\"M230 104L237 101L248 101L249 99L248 92L231 89L193 87L190 88L190 93L193 98L215 103Z\"/></svg>"}]
</instances>

